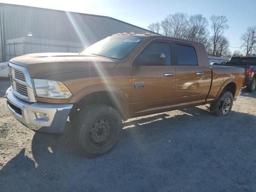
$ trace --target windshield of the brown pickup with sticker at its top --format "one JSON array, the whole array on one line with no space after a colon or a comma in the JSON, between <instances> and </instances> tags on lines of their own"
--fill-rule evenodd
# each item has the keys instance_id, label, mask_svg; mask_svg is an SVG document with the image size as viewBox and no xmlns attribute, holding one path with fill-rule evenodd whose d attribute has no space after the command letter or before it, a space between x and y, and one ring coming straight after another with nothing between
<instances>
[{"instance_id":1,"label":"windshield of the brown pickup with sticker at its top","mask_svg":"<svg viewBox=\"0 0 256 192\"><path fill-rule=\"evenodd\" d=\"M94 54L108 58L122 59L130 53L144 37L138 36L111 36L90 47L82 54Z\"/></svg>"}]
</instances>

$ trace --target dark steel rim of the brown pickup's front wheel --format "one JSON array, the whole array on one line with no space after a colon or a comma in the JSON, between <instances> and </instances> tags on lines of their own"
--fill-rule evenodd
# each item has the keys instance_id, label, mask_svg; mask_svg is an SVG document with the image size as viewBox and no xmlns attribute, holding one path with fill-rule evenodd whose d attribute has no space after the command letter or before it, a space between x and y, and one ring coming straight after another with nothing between
<instances>
[{"instance_id":1,"label":"dark steel rim of the brown pickup's front wheel","mask_svg":"<svg viewBox=\"0 0 256 192\"><path fill-rule=\"evenodd\" d=\"M109 140L112 124L106 118L94 121L89 132L90 142L96 146L102 146Z\"/></svg>"}]
</instances>

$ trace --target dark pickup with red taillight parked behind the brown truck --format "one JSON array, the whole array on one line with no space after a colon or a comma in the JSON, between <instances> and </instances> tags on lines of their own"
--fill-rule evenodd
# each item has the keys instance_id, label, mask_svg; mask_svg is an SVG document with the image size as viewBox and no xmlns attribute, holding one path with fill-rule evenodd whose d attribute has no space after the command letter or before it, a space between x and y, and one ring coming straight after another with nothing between
<instances>
[{"instance_id":1,"label":"dark pickup with red taillight parked behind the brown truck","mask_svg":"<svg viewBox=\"0 0 256 192\"><path fill-rule=\"evenodd\" d=\"M246 90L253 92L256 89L256 57L232 57L224 65L243 67L246 70L244 81Z\"/></svg>"}]
</instances>

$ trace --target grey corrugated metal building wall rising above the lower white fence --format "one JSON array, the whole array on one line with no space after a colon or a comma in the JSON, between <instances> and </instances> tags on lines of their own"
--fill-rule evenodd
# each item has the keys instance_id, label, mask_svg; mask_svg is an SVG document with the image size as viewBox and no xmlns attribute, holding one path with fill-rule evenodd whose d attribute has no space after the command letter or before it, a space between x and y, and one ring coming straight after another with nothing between
<instances>
[{"instance_id":1,"label":"grey corrugated metal building wall rising above the lower white fence","mask_svg":"<svg viewBox=\"0 0 256 192\"><path fill-rule=\"evenodd\" d=\"M32 32L33 38L78 42L85 47L117 32L149 32L105 16L12 4L0 4L0 6L2 6L5 43L7 40L26 37L28 32Z\"/></svg>"}]
</instances>

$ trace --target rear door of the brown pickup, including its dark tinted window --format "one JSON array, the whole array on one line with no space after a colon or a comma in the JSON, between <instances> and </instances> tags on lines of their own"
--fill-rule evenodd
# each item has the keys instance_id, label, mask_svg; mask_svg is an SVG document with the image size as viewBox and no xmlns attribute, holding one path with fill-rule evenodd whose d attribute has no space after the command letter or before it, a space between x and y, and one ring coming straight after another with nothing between
<instances>
[{"instance_id":1,"label":"rear door of the brown pickup, including its dark tinted window","mask_svg":"<svg viewBox=\"0 0 256 192\"><path fill-rule=\"evenodd\" d=\"M176 82L172 107L199 102L204 71L193 44L174 42Z\"/></svg>"}]
</instances>

